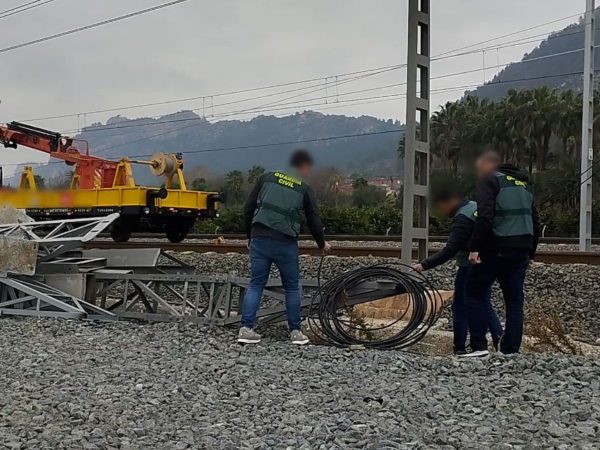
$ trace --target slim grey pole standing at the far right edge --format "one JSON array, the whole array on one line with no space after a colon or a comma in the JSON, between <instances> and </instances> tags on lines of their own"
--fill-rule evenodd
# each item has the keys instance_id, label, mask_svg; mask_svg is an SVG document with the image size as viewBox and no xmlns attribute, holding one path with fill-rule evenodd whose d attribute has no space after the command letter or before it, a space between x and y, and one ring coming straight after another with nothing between
<instances>
[{"instance_id":1,"label":"slim grey pole standing at the far right edge","mask_svg":"<svg viewBox=\"0 0 600 450\"><path fill-rule=\"evenodd\" d=\"M583 121L581 134L581 194L579 210L579 251L592 248L592 171L594 160L594 48L596 1L586 0L583 76Z\"/></svg>"}]
</instances>

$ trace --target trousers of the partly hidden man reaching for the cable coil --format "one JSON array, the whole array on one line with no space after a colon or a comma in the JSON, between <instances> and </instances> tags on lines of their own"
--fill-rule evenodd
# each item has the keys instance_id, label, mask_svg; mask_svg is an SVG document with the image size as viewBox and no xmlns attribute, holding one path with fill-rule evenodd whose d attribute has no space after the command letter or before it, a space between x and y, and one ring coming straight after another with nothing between
<instances>
[{"instance_id":1,"label":"trousers of the partly hidden man reaching for the cable coil","mask_svg":"<svg viewBox=\"0 0 600 450\"><path fill-rule=\"evenodd\" d=\"M471 267L459 267L454 279L454 298L452 299L452 329L454 330L454 351L465 350L469 321L467 310L467 281L471 276ZM492 340L497 343L502 336L502 324L492 305L492 287L487 289L484 297L487 316L486 331L489 330Z\"/></svg>"}]
</instances>

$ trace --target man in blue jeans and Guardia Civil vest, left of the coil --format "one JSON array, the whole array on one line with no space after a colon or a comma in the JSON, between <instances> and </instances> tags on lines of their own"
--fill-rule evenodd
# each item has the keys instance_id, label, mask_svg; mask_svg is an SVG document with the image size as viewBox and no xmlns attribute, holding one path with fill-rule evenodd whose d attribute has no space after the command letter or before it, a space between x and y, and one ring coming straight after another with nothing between
<instances>
[{"instance_id":1,"label":"man in blue jeans and Guardia Civil vest, left of the coil","mask_svg":"<svg viewBox=\"0 0 600 450\"><path fill-rule=\"evenodd\" d=\"M264 174L246 201L251 280L242 303L242 327L238 335L238 342L244 344L260 342L254 325L272 264L279 269L285 290L291 341L297 345L309 342L300 329L298 236L303 216L319 248L328 252L331 247L325 242L315 196L306 182L313 167L312 157L306 150L297 150L292 154L290 166L289 171Z\"/></svg>"}]
</instances>

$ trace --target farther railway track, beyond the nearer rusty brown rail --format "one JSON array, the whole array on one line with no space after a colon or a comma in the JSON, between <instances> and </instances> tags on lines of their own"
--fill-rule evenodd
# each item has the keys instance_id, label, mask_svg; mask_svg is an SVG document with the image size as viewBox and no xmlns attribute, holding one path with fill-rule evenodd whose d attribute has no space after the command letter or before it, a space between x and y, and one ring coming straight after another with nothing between
<instances>
[{"instance_id":1,"label":"farther railway track, beyond the nearer rusty brown rail","mask_svg":"<svg viewBox=\"0 0 600 450\"><path fill-rule=\"evenodd\" d=\"M246 235L243 233L225 233L225 234L188 234L187 239L216 239L219 236L223 236L225 239L232 240L244 240L246 239ZM108 235L105 235L108 237ZM132 235L134 239L162 239L161 235L154 233L134 233ZM312 236L310 235L301 235L301 241L312 241ZM357 236L353 234L332 234L326 236L326 239L331 242L335 241L350 241L350 242L401 242L402 236L377 236L377 235L368 235L368 236ZM448 236L430 236L429 240L431 242L446 242L448 240ZM545 237L540 239L541 244L578 244L579 238L571 238L571 237ZM594 245L600 245L600 238L592 239L592 243Z\"/></svg>"}]
</instances>

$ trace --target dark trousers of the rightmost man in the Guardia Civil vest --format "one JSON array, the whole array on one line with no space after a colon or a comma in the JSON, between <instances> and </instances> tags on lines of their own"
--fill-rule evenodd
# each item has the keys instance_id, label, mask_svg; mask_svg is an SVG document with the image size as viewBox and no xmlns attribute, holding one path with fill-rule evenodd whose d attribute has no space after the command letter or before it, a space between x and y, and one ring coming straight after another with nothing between
<instances>
[{"instance_id":1,"label":"dark trousers of the rightmost man in the Guardia Civil vest","mask_svg":"<svg viewBox=\"0 0 600 450\"><path fill-rule=\"evenodd\" d=\"M473 350L487 350L486 294L498 280L506 305L506 325L500 351L507 354L519 352L523 340L523 284L528 265L528 252L506 251L481 255L481 263L471 267L471 276L467 280L467 314Z\"/></svg>"}]
</instances>

